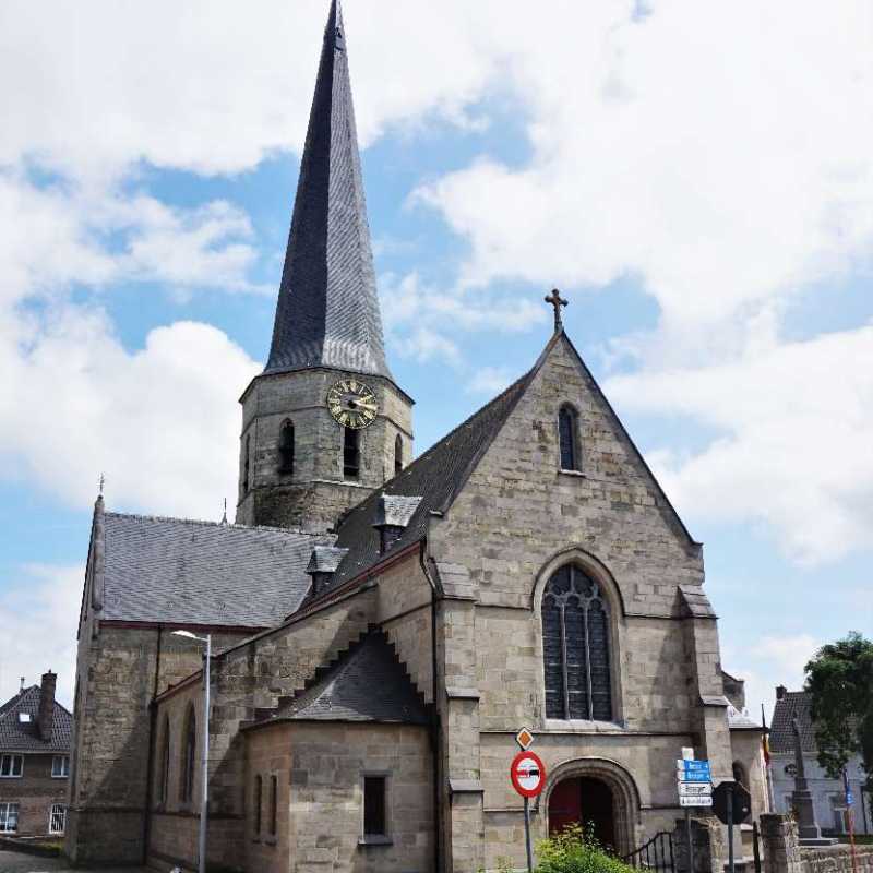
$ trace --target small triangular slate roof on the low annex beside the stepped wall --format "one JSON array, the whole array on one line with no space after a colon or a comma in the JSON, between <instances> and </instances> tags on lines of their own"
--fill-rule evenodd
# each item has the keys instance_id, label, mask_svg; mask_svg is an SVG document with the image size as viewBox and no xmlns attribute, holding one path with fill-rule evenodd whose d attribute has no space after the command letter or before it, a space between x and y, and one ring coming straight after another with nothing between
<instances>
[{"instance_id":1,"label":"small triangular slate roof on the low annex beside the stepped wall","mask_svg":"<svg viewBox=\"0 0 873 873\"><path fill-rule=\"evenodd\" d=\"M276 718L428 723L421 695L380 631L354 645L312 687L280 708Z\"/></svg>"}]
</instances>

